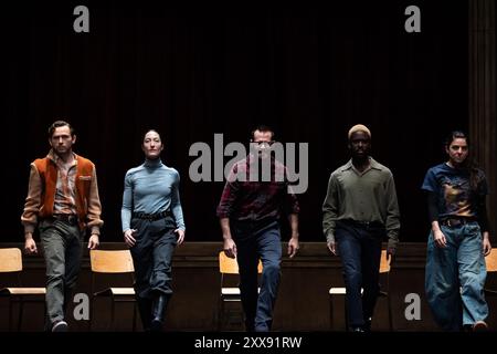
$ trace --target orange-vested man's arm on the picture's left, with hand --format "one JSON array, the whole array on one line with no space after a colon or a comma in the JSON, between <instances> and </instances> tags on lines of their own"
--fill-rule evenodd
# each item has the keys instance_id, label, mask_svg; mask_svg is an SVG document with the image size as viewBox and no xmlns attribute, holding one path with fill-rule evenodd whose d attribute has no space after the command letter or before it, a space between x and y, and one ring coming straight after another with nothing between
<instances>
[{"instance_id":1,"label":"orange-vested man's arm on the picture's left, with hand","mask_svg":"<svg viewBox=\"0 0 497 354\"><path fill-rule=\"evenodd\" d=\"M31 164L28 197L21 222L24 226L24 251L28 254L38 253L36 242L33 239L34 228L38 223L38 215L41 208L42 180L34 164Z\"/></svg>"}]
</instances>

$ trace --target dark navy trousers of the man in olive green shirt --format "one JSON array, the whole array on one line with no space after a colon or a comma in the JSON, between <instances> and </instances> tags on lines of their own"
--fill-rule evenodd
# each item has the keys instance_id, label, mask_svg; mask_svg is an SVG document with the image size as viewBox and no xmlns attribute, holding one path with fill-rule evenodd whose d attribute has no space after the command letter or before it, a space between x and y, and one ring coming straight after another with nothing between
<instances>
[{"instance_id":1,"label":"dark navy trousers of the man in olive green shirt","mask_svg":"<svg viewBox=\"0 0 497 354\"><path fill-rule=\"evenodd\" d=\"M362 327L372 317L380 291L381 241L384 235L381 226L366 227L337 221L335 238L343 267L351 327Z\"/></svg>"}]
</instances>

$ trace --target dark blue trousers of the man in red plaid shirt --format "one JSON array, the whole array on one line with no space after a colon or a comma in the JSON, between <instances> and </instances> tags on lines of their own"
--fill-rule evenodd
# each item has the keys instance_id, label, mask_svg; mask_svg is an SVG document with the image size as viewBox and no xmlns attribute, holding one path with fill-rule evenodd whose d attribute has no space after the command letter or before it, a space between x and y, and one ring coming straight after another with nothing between
<instances>
[{"instance_id":1,"label":"dark blue trousers of the man in red plaid shirt","mask_svg":"<svg viewBox=\"0 0 497 354\"><path fill-rule=\"evenodd\" d=\"M273 323L273 309L281 279L282 241L277 221L232 221L240 269L240 292L245 327L265 332ZM257 294L257 264L263 263L261 292Z\"/></svg>"}]
</instances>

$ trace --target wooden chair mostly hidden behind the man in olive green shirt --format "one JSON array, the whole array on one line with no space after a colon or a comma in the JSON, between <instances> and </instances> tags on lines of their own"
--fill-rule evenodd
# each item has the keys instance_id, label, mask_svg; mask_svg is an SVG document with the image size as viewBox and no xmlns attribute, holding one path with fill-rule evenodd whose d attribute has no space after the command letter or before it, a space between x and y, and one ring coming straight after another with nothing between
<instances>
[{"instance_id":1,"label":"wooden chair mostly hidden behind the man in olive green shirt","mask_svg":"<svg viewBox=\"0 0 497 354\"><path fill-rule=\"evenodd\" d=\"M382 289L380 290L379 298L385 298L387 299L387 306L388 306L388 313L389 313L389 329L390 331L393 330L393 321L392 321L392 306L391 301L389 296L389 274L390 274L390 260L387 261L387 251L381 251L381 260L380 260L380 275L383 274L383 284ZM334 296L335 295L342 295L346 299L347 289L346 288L330 288L329 289L329 321L330 326L334 329ZM362 289L361 289L362 293ZM347 300L343 300L345 303L345 324L346 324L346 331L349 330L349 319L348 319L348 305Z\"/></svg>"}]
</instances>

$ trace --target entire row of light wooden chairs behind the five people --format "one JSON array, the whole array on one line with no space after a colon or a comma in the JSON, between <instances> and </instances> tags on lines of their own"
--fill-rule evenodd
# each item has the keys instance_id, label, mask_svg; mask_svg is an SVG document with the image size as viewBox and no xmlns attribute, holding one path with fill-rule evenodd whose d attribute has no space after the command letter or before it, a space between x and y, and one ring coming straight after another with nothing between
<instances>
[{"instance_id":1,"label":"entire row of light wooden chairs behind the five people","mask_svg":"<svg viewBox=\"0 0 497 354\"><path fill-rule=\"evenodd\" d=\"M104 288L95 291L96 277L98 274L128 274L130 282L134 282L134 266L129 250L92 250L91 251L91 268L92 268L92 303L95 298L107 296L110 300L110 329L115 329L115 306L120 302L135 302L135 291L131 287L125 288ZM18 248L0 249L0 272L10 272L15 274L17 287L9 287L0 289L0 295L9 298L9 330L12 330L12 304L19 303L18 313L18 331L21 330L23 305L27 302L44 302L45 288L25 288L22 287L21 272L22 272L22 254ZM488 272L497 271L497 250L493 250L486 258L486 266ZM236 283L236 275L239 274L237 262L234 259L228 258L223 251L219 253L219 270L221 273L221 287L220 287L220 300L218 306L218 329L221 330L224 322L225 303L240 302L240 289ZM261 274L263 270L262 262L258 262L257 271ZM392 311L391 301L389 298L389 273L390 263L385 260L385 251L382 251L380 274L382 275L382 290L380 291L380 298L384 298L388 301L388 316L389 327L392 325ZM234 278L234 279L233 279ZM497 295L497 291L485 289L488 296ZM332 287L329 289L329 316L331 329L334 326L334 298L346 295L346 288ZM347 302L345 303L345 313L347 314ZM94 315L94 305L91 306L91 319ZM133 312L133 330L136 329L136 306L134 305ZM239 310L241 313L241 310ZM91 330L92 321L88 321L88 330ZM346 329L347 315L346 315Z\"/></svg>"}]
</instances>

